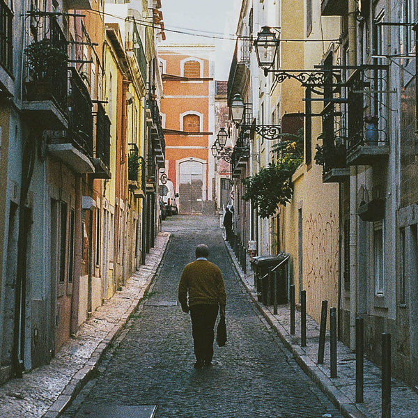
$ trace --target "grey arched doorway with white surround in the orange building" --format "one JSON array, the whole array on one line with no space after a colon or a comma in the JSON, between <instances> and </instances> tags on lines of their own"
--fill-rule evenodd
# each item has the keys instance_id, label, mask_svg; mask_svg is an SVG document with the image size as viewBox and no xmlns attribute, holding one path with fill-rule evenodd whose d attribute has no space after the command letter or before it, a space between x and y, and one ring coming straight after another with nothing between
<instances>
[{"instance_id":1,"label":"grey arched doorway with white surround in the orange building","mask_svg":"<svg viewBox=\"0 0 418 418\"><path fill-rule=\"evenodd\" d=\"M180 162L178 192L181 213L203 211L203 163L189 160Z\"/></svg>"}]
</instances>

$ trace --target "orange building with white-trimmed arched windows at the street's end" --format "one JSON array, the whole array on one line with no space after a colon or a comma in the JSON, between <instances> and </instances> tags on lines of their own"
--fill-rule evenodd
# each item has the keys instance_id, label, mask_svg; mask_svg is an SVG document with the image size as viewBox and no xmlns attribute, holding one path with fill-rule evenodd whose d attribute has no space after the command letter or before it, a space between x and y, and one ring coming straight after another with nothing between
<instances>
[{"instance_id":1,"label":"orange building with white-trimmed arched windows at the street's end","mask_svg":"<svg viewBox=\"0 0 418 418\"><path fill-rule=\"evenodd\" d=\"M215 47L159 47L164 97L162 124L166 140L165 173L179 194L182 214L215 210Z\"/></svg>"}]
</instances>

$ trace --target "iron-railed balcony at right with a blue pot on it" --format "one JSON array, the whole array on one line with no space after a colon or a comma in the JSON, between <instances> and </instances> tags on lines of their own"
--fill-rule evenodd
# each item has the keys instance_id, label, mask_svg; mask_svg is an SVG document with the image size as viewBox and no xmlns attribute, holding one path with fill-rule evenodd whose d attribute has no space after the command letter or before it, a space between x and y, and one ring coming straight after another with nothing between
<instances>
[{"instance_id":1,"label":"iron-railed balcony at right with a blue pot on it","mask_svg":"<svg viewBox=\"0 0 418 418\"><path fill-rule=\"evenodd\" d=\"M348 80L347 96L347 164L372 165L387 160L387 105L385 92L387 67L374 65L356 70ZM370 94L363 91L369 89ZM364 100L366 96L367 100ZM376 114L364 114L376 109Z\"/></svg>"}]
</instances>

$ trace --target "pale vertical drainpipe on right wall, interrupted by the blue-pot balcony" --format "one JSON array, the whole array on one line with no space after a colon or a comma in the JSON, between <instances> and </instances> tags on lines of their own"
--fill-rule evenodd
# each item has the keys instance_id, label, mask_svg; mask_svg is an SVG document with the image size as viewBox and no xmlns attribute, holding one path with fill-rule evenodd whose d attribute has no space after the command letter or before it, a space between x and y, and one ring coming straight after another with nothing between
<instances>
[{"instance_id":1,"label":"pale vertical drainpipe on right wall, interrupted by the blue-pot balcony","mask_svg":"<svg viewBox=\"0 0 418 418\"><path fill-rule=\"evenodd\" d=\"M348 0L348 64L357 65L356 2ZM355 350L357 317L357 166L350 172L350 349Z\"/></svg>"}]
</instances>

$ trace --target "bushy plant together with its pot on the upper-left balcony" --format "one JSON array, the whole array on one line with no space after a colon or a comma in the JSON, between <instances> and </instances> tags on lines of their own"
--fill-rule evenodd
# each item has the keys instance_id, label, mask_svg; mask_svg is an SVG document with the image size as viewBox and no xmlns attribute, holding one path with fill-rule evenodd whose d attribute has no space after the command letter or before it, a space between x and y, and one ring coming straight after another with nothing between
<instances>
[{"instance_id":1,"label":"bushy plant together with its pot on the upper-left balcony","mask_svg":"<svg viewBox=\"0 0 418 418\"><path fill-rule=\"evenodd\" d=\"M52 84L66 82L68 54L66 50L49 39L32 42L24 49L29 81L26 82L26 96L29 100L50 98ZM64 79L63 79L64 77Z\"/></svg>"}]
</instances>

